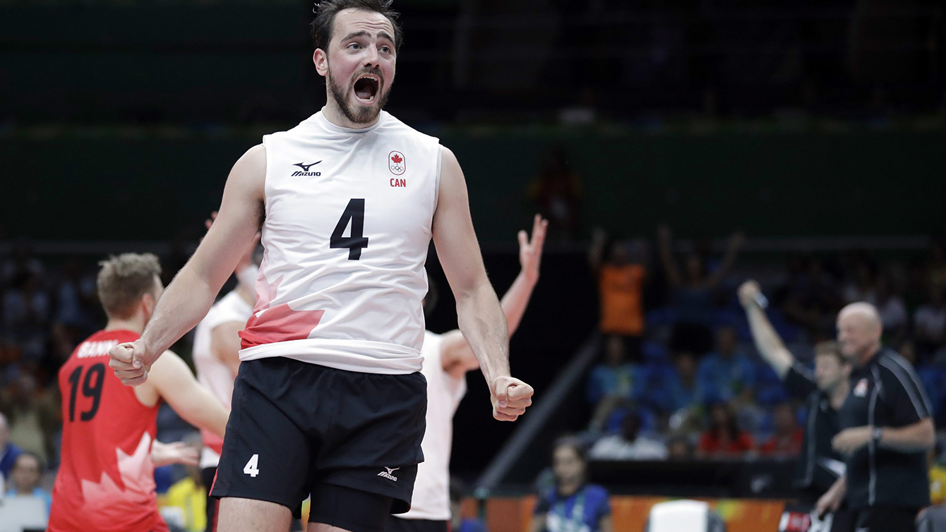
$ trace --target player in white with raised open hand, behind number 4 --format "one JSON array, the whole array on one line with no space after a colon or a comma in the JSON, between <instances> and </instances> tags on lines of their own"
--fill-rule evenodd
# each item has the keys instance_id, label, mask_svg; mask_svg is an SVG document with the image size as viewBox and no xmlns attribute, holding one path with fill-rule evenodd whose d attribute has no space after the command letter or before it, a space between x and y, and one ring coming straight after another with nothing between
<instances>
[{"instance_id":1,"label":"player in white with raised open hand, behind number 4","mask_svg":"<svg viewBox=\"0 0 946 532\"><path fill-rule=\"evenodd\" d=\"M542 247L549 221L535 215L532 240L520 231L519 265L522 269L500 304L506 315L509 335L513 335L525 314L538 283ZM424 300L430 311L434 301ZM424 337L424 376L427 377L427 431L424 433L424 462L417 467L411 511L388 520L386 532L447 532L450 521L450 447L453 441L453 414L466 394L466 372L480 367L463 333L453 330L443 335L427 331Z\"/></svg>"}]
</instances>

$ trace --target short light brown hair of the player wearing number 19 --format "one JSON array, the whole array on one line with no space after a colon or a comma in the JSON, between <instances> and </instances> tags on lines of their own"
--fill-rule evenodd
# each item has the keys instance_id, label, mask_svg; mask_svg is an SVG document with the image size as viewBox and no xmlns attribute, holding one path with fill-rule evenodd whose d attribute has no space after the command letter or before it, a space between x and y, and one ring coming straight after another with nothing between
<instances>
[{"instance_id":1,"label":"short light brown hair of the player wearing number 19","mask_svg":"<svg viewBox=\"0 0 946 532\"><path fill-rule=\"evenodd\" d=\"M111 255L98 263L98 300L109 317L131 317L135 305L154 291L161 263L153 253Z\"/></svg>"}]
</instances>

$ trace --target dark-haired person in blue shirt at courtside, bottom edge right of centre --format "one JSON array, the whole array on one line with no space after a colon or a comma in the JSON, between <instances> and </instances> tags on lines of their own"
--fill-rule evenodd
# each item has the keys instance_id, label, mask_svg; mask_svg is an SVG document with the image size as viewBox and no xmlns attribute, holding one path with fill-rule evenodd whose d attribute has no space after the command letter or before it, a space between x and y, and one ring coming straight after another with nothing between
<instances>
[{"instance_id":1,"label":"dark-haired person in blue shirt at courtside, bottom edge right of centre","mask_svg":"<svg viewBox=\"0 0 946 532\"><path fill-rule=\"evenodd\" d=\"M611 532L607 490L587 484L587 457L580 439L561 438L552 451L555 486L539 496L532 532Z\"/></svg>"}]
</instances>

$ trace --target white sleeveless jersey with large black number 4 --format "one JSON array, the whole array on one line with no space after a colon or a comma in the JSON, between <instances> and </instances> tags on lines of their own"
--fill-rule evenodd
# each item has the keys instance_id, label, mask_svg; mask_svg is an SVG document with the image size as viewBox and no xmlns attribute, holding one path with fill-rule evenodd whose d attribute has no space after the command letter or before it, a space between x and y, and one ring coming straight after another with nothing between
<instances>
[{"instance_id":1,"label":"white sleeveless jersey with large black number 4","mask_svg":"<svg viewBox=\"0 0 946 532\"><path fill-rule=\"evenodd\" d=\"M419 371L438 140L387 112L367 129L317 112L263 146L265 252L240 359Z\"/></svg>"}]
</instances>

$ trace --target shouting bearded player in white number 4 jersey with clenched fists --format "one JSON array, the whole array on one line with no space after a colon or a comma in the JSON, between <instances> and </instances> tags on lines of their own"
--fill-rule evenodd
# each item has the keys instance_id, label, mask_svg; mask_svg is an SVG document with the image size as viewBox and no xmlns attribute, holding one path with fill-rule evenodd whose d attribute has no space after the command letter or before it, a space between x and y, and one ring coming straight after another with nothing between
<instances>
[{"instance_id":1,"label":"shouting bearded player in white number 4 jersey with clenched fists","mask_svg":"<svg viewBox=\"0 0 946 532\"><path fill-rule=\"evenodd\" d=\"M531 386L509 372L509 335L486 277L456 157L381 107L401 42L390 1L324 0L312 34L327 103L236 162L219 215L141 339L112 352L129 386L201 320L254 233L263 262L217 479L219 530L380 532L410 508L427 385L421 300L430 239L460 329L516 420Z\"/></svg>"}]
</instances>

